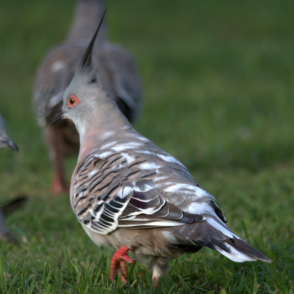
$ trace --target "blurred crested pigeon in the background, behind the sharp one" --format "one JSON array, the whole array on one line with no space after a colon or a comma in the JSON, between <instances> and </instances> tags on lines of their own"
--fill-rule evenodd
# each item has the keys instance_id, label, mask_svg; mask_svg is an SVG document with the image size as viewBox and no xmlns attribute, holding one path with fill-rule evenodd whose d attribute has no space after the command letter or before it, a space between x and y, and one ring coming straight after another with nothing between
<instances>
[{"instance_id":1,"label":"blurred crested pigeon in the background, behind the sharp one","mask_svg":"<svg viewBox=\"0 0 294 294\"><path fill-rule=\"evenodd\" d=\"M79 0L74 22L66 40L52 49L36 72L33 106L54 166L52 190L68 192L64 174L64 157L78 154L79 139L74 124L64 120L51 125L53 116L62 107L63 93L71 82L103 14L101 0ZM141 111L141 84L136 64L121 46L108 41L106 27L93 49L93 62L103 87L113 97L123 114L134 122Z\"/></svg>"}]
</instances>

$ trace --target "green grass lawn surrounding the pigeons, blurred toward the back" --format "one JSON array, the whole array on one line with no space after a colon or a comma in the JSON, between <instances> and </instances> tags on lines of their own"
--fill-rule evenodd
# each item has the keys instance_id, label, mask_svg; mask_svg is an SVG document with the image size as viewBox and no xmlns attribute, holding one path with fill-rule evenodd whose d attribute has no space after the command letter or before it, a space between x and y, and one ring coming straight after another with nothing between
<instances>
[{"instance_id":1,"label":"green grass lawn surrounding the pigeons, blurred toward the back","mask_svg":"<svg viewBox=\"0 0 294 294\"><path fill-rule=\"evenodd\" d=\"M143 264L129 267L128 288L109 284L113 250L91 242L67 195L49 192L31 89L73 7L0 2L0 111L20 149L0 150L0 202L29 195L7 219L22 242L1 244L1 293L293 293L293 1L108 1L109 35L136 57L144 87L136 130L179 158L229 227L273 260L239 264L204 248L170 262L157 291Z\"/></svg>"}]
</instances>

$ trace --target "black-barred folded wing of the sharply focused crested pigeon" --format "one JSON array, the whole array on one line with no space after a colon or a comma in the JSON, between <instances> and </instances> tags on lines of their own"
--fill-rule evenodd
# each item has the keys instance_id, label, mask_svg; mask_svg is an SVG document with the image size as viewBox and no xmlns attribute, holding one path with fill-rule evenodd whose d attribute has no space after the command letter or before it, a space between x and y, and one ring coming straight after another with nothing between
<instances>
[{"instance_id":1,"label":"black-barred folded wing of the sharply focused crested pigeon","mask_svg":"<svg viewBox=\"0 0 294 294\"><path fill-rule=\"evenodd\" d=\"M154 228L203 220L166 201L152 180L152 163L150 169L146 165L143 157L121 152L86 158L78 166L71 191L78 220L100 234L119 227Z\"/></svg>"}]
</instances>

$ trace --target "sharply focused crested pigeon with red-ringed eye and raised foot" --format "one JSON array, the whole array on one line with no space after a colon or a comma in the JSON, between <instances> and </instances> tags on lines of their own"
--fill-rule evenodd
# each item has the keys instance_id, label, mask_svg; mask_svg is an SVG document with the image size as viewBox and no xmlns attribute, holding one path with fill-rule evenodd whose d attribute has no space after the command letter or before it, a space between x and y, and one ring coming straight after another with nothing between
<instances>
[{"instance_id":1,"label":"sharply focused crested pigeon with red-ringed eye and raised foot","mask_svg":"<svg viewBox=\"0 0 294 294\"><path fill-rule=\"evenodd\" d=\"M226 226L216 199L180 161L137 133L120 112L96 78L98 30L52 123L70 119L78 130L71 206L96 245L116 249L111 280L116 272L127 279L127 263L135 262L128 251L148 262L155 287L170 260L204 246L236 262L271 262Z\"/></svg>"}]
</instances>

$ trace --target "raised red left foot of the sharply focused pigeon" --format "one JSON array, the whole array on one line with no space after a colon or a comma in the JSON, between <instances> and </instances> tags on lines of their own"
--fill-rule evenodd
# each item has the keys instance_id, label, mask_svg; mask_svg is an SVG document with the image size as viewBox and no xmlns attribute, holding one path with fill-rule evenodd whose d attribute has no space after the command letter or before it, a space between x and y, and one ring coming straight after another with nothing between
<instances>
[{"instance_id":1,"label":"raised red left foot of the sharply focused pigeon","mask_svg":"<svg viewBox=\"0 0 294 294\"><path fill-rule=\"evenodd\" d=\"M127 252L129 250L130 248L123 245L114 252L110 263L110 280L114 280L115 272L121 277L122 282L125 282L128 278L127 262L134 263L136 261L135 258L128 257Z\"/></svg>"}]
</instances>

